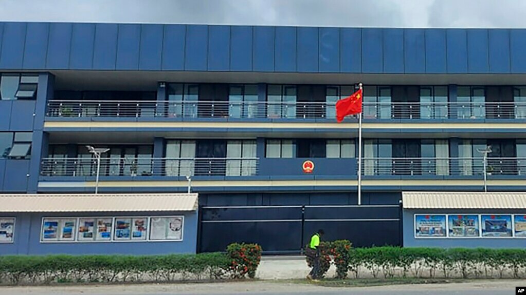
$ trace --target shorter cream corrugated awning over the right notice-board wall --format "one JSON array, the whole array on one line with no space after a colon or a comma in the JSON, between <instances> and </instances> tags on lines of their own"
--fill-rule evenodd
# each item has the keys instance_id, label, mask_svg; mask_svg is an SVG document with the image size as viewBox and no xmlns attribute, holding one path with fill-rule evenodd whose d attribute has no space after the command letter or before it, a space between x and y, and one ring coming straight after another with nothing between
<instances>
[{"instance_id":1,"label":"shorter cream corrugated awning over the right notice-board wall","mask_svg":"<svg viewBox=\"0 0 526 295\"><path fill-rule=\"evenodd\" d=\"M404 209L524 209L526 193L402 192Z\"/></svg>"}]
</instances>

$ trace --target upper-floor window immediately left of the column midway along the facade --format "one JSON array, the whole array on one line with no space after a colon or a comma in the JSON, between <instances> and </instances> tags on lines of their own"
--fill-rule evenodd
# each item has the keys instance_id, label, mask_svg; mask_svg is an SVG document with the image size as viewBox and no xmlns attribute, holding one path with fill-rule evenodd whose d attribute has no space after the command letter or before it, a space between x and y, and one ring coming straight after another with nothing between
<instances>
[{"instance_id":1,"label":"upper-floor window immediately left of the column midway along the facade","mask_svg":"<svg viewBox=\"0 0 526 295\"><path fill-rule=\"evenodd\" d=\"M256 118L258 108L258 86L230 86L228 102L228 113L230 118Z\"/></svg>"}]
</instances>

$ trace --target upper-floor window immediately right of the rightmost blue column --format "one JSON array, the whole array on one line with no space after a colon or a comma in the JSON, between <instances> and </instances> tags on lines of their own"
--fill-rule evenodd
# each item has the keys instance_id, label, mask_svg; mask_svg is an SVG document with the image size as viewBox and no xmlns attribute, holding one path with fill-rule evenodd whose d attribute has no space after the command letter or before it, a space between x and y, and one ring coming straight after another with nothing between
<instances>
[{"instance_id":1,"label":"upper-floor window immediately right of the rightmost blue column","mask_svg":"<svg viewBox=\"0 0 526 295\"><path fill-rule=\"evenodd\" d=\"M460 119L485 118L485 90L483 87L459 86L457 88L457 116Z\"/></svg>"}]
</instances>

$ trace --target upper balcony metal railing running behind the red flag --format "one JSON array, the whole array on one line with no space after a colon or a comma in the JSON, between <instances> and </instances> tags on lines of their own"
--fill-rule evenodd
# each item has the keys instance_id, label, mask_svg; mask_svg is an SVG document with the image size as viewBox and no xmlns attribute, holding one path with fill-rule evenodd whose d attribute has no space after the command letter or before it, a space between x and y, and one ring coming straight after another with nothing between
<instances>
[{"instance_id":1,"label":"upper balcony metal railing running behind the red flag","mask_svg":"<svg viewBox=\"0 0 526 295\"><path fill-rule=\"evenodd\" d=\"M52 100L47 117L335 119L335 103ZM526 119L526 102L364 102L364 119Z\"/></svg>"}]
</instances>

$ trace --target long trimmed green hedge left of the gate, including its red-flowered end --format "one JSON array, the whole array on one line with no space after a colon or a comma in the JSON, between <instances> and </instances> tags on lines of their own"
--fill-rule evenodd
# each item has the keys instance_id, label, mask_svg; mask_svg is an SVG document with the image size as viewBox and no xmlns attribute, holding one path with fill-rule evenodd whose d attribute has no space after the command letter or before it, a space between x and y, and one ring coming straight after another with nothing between
<instances>
[{"instance_id":1,"label":"long trimmed green hedge left of the gate, including its red-flowered end","mask_svg":"<svg viewBox=\"0 0 526 295\"><path fill-rule=\"evenodd\" d=\"M239 244L235 244L239 245ZM232 253L208 253L196 255L47 255L47 256L0 256L0 283L36 285L75 282L127 282L175 280L216 280L222 278L254 277L259 266L261 247L242 244L249 249L259 248L247 254L250 272L232 269L237 259ZM233 246L237 247L237 246ZM252 256L257 257L254 258Z\"/></svg>"}]
</instances>

